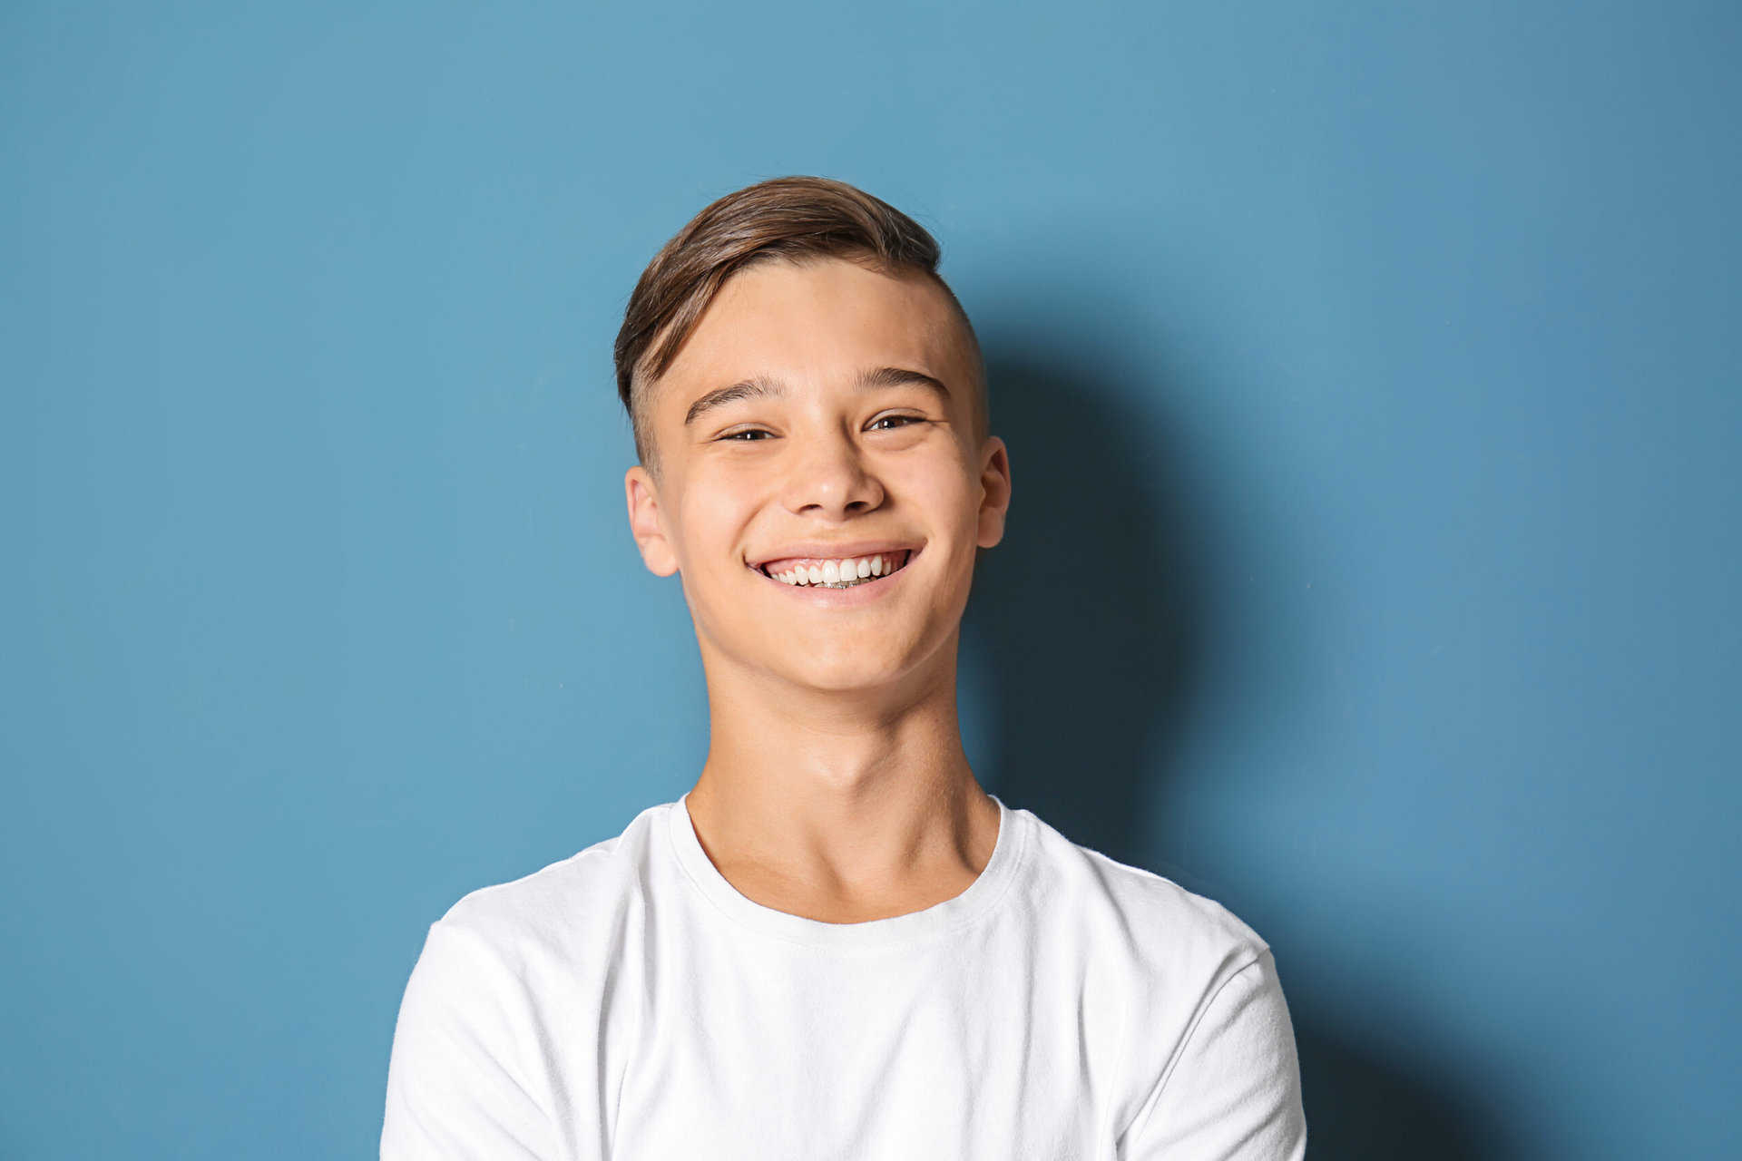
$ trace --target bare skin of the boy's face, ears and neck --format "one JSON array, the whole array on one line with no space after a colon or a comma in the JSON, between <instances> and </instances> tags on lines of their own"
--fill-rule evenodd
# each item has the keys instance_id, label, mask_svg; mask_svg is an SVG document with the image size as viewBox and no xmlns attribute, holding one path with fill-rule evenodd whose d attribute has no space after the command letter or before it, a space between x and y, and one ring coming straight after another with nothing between
<instances>
[{"instance_id":1,"label":"bare skin of the boy's face, ears and neck","mask_svg":"<svg viewBox=\"0 0 1742 1161\"><path fill-rule=\"evenodd\" d=\"M871 367L930 374L949 400L854 390ZM758 374L786 397L685 423L700 395ZM756 903L822 923L902 916L955 898L991 858L998 804L962 748L956 649L976 552L1003 538L1010 468L1002 439L976 440L970 390L939 287L817 259L735 275L650 392L660 475L625 473L629 524L695 621L711 728L688 799L697 837ZM831 609L746 567L801 540L923 552L881 599Z\"/></svg>"}]
</instances>

